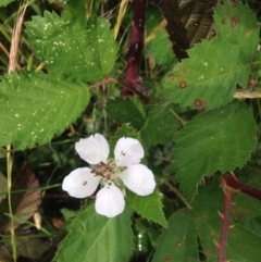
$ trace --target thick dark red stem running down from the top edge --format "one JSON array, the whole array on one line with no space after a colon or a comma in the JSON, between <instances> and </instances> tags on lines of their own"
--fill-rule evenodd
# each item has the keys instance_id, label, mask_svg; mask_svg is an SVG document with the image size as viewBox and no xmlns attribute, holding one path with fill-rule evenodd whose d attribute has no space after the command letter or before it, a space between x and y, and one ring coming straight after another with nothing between
<instances>
[{"instance_id":1,"label":"thick dark red stem running down from the top edge","mask_svg":"<svg viewBox=\"0 0 261 262\"><path fill-rule=\"evenodd\" d=\"M127 67L124 84L138 89L142 79L139 76L139 66L141 52L144 49L145 18L147 10L147 0L133 0L133 25L130 32L129 47L127 51ZM123 86L122 98L133 95L133 92Z\"/></svg>"}]
</instances>

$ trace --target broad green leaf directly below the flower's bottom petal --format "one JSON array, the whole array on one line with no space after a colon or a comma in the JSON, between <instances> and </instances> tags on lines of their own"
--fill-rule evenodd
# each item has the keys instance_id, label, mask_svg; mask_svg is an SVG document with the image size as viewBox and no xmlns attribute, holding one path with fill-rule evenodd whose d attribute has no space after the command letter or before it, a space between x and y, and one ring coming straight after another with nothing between
<instances>
[{"instance_id":1,"label":"broad green leaf directly below the flower's bottom petal","mask_svg":"<svg viewBox=\"0 0 261 262\"><path fill-rule=\"evenodd\" d=\"M108 219L97 214L91 205L72 222L54 261L127 262L133 249L128 209Z\"/></svg>"}]
</instances>

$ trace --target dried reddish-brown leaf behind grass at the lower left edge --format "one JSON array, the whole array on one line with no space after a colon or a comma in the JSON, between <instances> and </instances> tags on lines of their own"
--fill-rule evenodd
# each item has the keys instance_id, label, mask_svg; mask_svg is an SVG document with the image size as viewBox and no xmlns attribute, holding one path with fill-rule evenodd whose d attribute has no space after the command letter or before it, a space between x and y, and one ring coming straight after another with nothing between
<instances>
[{"instance_id":1,"label":"dried reddish-brown leaf behind grass at the lower left edge","mask_svg":"<svg viewBox=\"0 0 261 262\"><path fill-rule=\"evenodd\" d=\"M28 220L37 211L41 203L41 190L39 189L39 180L36 178L35 174L32 172L29 166L26 164L22 172L18 174L17 178L12 186L12 190L21 190L23 192L13 194L11 198L11 204L13 210L13 215L20 219ZM1 211L9 212L8 205L9 200L2 201ZM21 224L20 221L13 220L13 224L10 219L7 223L1 223L1 232L9 232L10 227L13 226L15 229Z\"/></svg>"}]
</instances>

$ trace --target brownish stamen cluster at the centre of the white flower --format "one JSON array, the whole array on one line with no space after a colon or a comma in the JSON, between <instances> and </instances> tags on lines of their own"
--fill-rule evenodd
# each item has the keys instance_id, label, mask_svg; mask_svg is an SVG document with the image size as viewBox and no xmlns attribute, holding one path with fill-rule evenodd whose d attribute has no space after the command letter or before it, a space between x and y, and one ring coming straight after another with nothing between
<instances>
[{"instance_id":1,"label":"brownish stamen cluster at the centre of the white flower","mask_svg":"<svg viewBox=\"0 0 261 262\"><path fill-rule=\"evenodd\" d=\"M110 160L108 163L101 161L91 173L103 177L105 180L113 182L116 178L116 164L114 160Z\"/></svg>"}]
</instances>

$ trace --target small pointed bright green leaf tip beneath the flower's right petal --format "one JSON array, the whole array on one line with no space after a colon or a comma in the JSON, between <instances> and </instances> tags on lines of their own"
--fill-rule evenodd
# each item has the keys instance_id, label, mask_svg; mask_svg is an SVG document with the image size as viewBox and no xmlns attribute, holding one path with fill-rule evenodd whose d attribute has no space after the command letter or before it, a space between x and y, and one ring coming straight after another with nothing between
<instances>
[{"instance_id":1,"label":"small pointed bright green leaf tip beneath the flower's right petal","mask_svg":"<svg viewBox=\"0 0 261 262\"><path fill-rule=\"evenodd\" d=\"M163 227L167 227L167 223L162 210L161 196L158 190L146 197L137 196L126 189L127 200L132 208L147 220L159 223Z\"/></svg>"}]
</instances>

